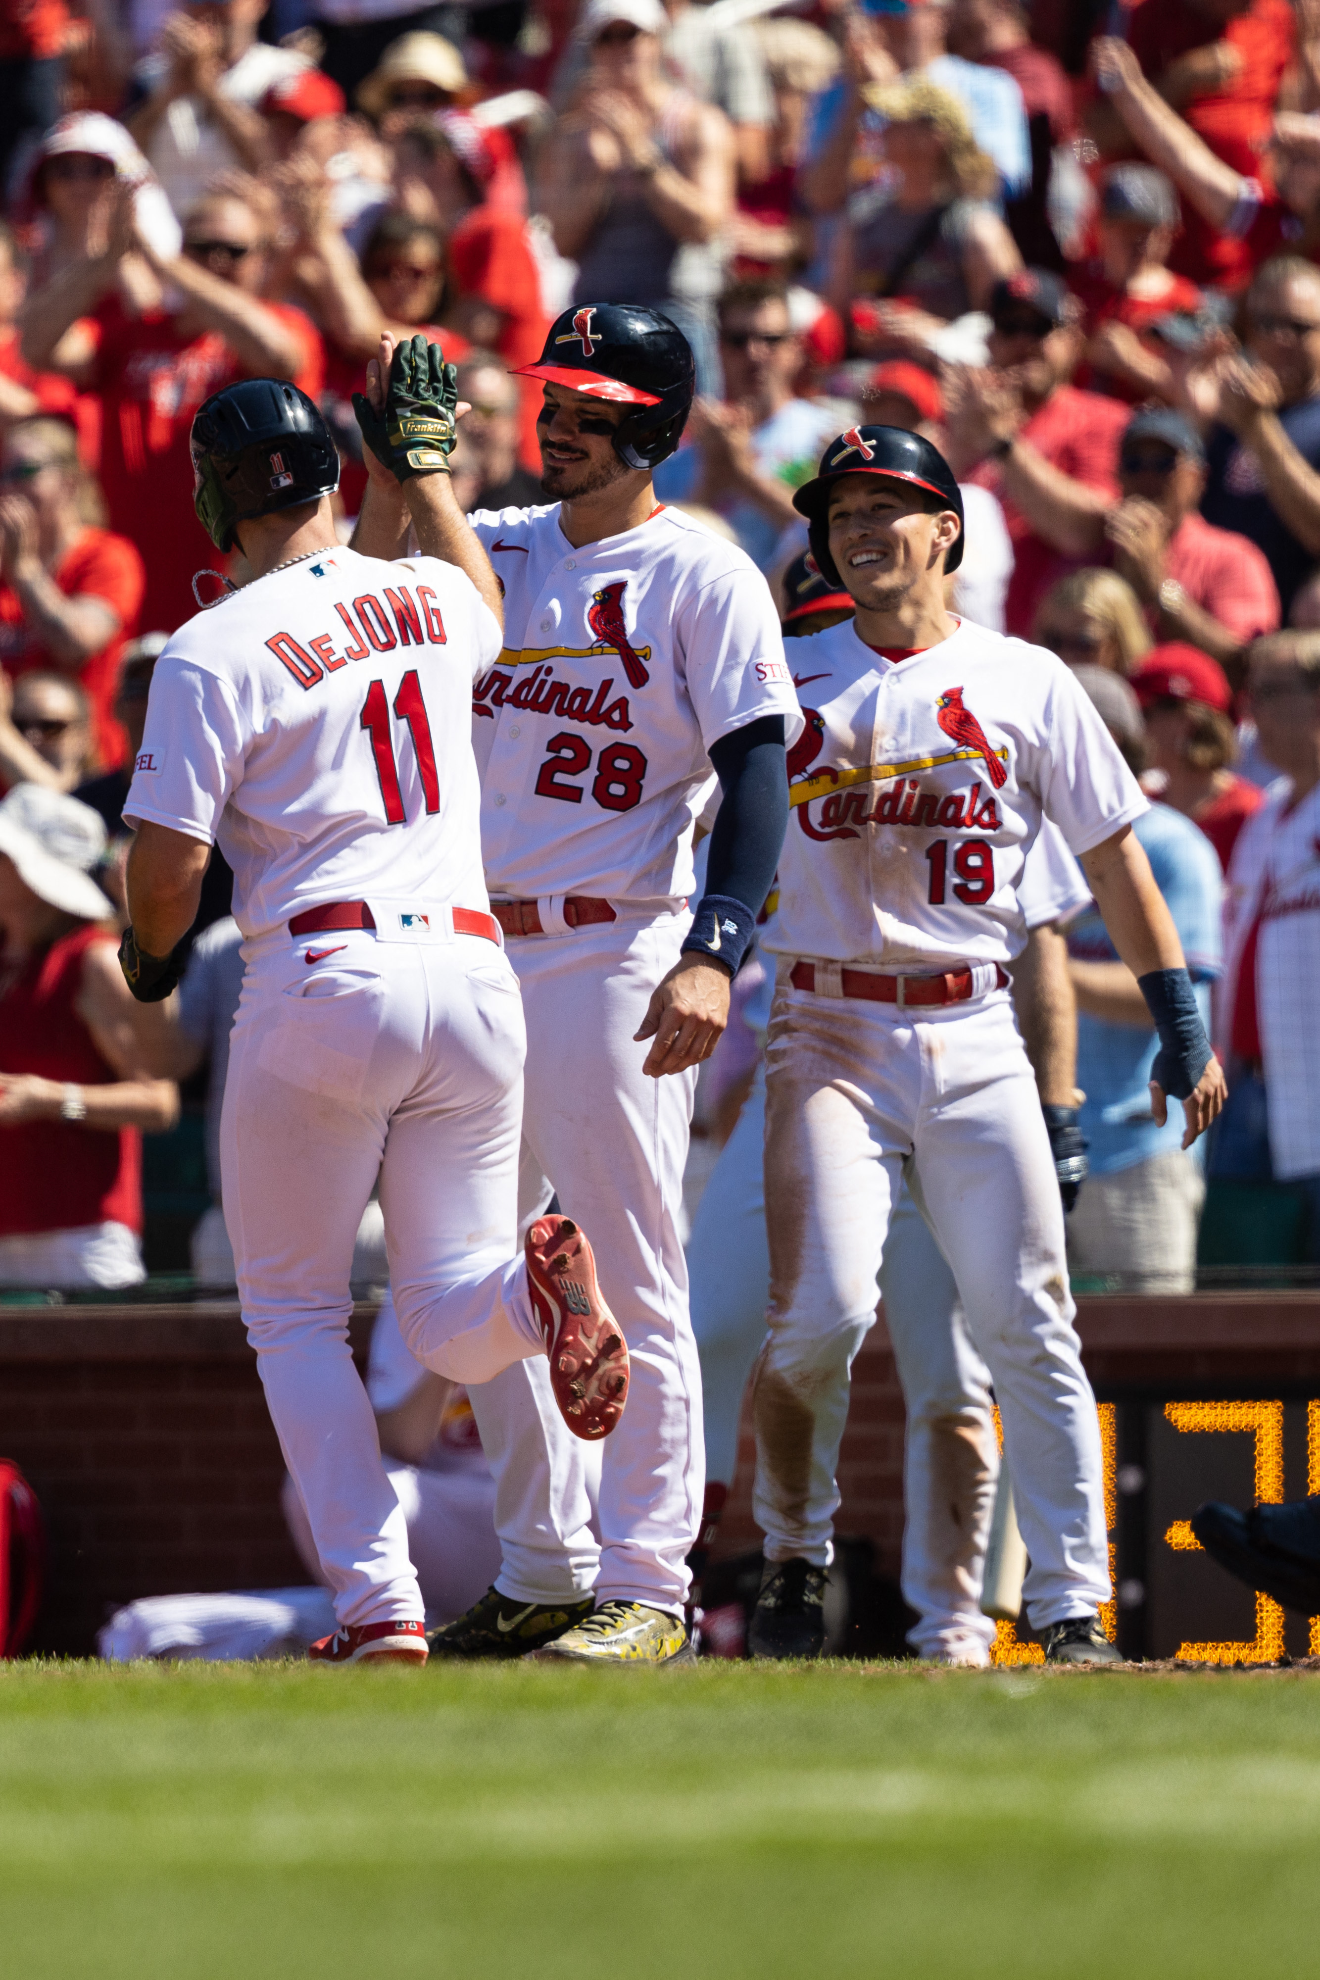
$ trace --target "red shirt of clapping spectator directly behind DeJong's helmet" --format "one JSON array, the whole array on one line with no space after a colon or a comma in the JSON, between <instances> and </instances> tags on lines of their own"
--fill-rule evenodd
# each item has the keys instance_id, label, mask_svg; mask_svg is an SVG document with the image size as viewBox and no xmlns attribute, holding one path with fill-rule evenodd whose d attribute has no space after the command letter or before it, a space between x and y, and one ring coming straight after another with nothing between
<instances>
[{"instance_id":1,"label":"red shirt of clapping spectator directly behind DeJong's helmet","mask_svg":"<svg viewBox=\"0 0 1320 1980\"><path fill-rule=\"evenodd\" d=\"M293 382L321 400L325 352L301 309L263 303L299 345ZM101 487L111 525L146 562L144 632L174 632L194 618L192 574L216 564L216 546L192 511L188 432L204 398L245 376L218 331L186 337L162 309L129 315L109 297L87 323L97 339L93 388L101 394Z\"/></svg>"}]
</instances>

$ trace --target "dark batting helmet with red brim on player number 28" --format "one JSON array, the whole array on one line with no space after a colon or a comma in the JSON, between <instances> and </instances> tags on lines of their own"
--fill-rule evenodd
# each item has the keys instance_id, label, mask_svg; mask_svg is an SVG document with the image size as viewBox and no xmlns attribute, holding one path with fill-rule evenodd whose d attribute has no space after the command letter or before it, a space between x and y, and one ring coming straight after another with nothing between
<instances>
[{"instance_id":1,"label":"dark batting helmet with red brim on player number 28","mask_svg":"<svg viewBox=\"0 0 1320 1980\"><path fill-rule=\"evenodd\" d=\"M659 309L586 303L556 317L536 364L519 378L546 378L612 406L633 406L613 432L625 467L659 467L683 438L693 406L693 346Z\"/></svg>"}]
</instances>

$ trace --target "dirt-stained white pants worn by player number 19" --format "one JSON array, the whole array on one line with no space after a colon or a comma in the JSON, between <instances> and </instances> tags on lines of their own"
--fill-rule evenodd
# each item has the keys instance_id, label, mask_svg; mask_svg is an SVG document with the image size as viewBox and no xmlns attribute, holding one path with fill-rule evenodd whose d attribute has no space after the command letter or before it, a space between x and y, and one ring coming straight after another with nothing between
<instances>
[{"instance_id":1,"label":"dirt-stained white pants worn by player number 19","mask_svg":"<svg viewBox=\"0 0 1320 1980\"><path fill-rule=\"evenodd\" d=\"M906 1164L995 1384L1031 1626L1092 1614L1110 1594L1100 1430L1007 992L918 1018L780 982L766 1095L770 1335L754 1374L766 1558L829 1562L849 1370Z\"/></svg>"}]
</instances>

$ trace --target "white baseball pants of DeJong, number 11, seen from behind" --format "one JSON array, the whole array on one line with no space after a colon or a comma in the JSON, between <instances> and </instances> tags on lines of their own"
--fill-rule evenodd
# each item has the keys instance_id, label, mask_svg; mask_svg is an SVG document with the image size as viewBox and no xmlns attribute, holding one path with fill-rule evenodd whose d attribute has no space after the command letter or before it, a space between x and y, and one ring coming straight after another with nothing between
<instances>
[{"instance_id":1,"label":"white baseball pants of DeJong, number 11, seen from behind","mask_svg":"<svg viewBox=\"0 0 1320 1980\"><path fill-rule=\"evenodd\" d=\"M352 1245L380 1172L416 1358L457 1382L544 1362L515 1255L519 986L471 935L307 944L281 929L243 954L220 1123L243 1321L340 1624L418 1618L404 1511L348 1350Z\"/></svg>"}]
</instances>

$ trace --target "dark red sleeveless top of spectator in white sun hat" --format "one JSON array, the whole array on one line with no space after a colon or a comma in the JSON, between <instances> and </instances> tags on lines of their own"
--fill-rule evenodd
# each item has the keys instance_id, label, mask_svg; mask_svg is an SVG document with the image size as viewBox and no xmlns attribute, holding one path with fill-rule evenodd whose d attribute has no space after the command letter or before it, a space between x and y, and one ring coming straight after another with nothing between
<instances>
[{"instance_id":1,"label":"dark red sleeveless top of spectator in white sun hat","mask_svg":"<svg viewBox=\"0 0 1320 1980\"><path fill-rule=\"evenodd\" d=\"M81 1087L119 1073L97 1051L77 1014L83 958L107 929L81 927L32 956L0 996L0 1073L36 1073ZM0 1238L81 1230L87 1224L142 1228L142 1137L135 1127L89 1131L65 1121L0 1127Z\"/></svg>"}]
</instances>

